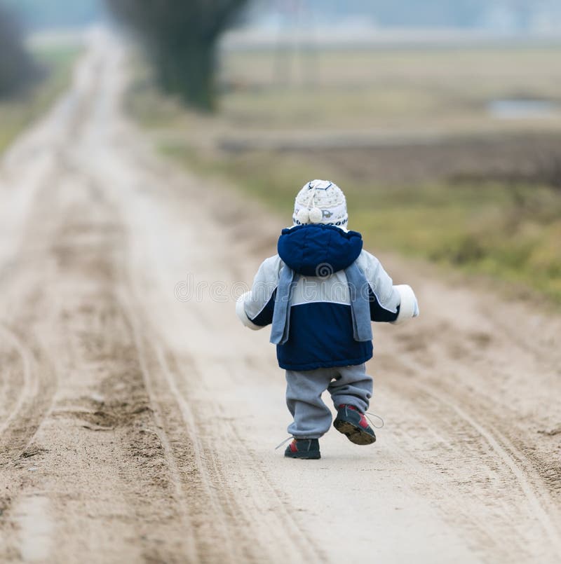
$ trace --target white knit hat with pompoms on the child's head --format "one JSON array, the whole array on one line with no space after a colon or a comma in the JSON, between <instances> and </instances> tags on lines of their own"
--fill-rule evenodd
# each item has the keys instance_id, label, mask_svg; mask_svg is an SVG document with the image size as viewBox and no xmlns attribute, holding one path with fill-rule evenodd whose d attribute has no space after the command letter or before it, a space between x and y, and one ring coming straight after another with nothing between
<instances>
[{"instance_id":1,"label":"white knit hat with pompoms on the child's head","mask_svg":"<svg viewBox=\"0 0 561 564\"><path fill-rule=\"evenodd\" d=\"M295 225L323 223L346 228L349 216L342 189L329 180L311 180L304 184L296 196L292 221Z\"/></svg>"}]
</instances>

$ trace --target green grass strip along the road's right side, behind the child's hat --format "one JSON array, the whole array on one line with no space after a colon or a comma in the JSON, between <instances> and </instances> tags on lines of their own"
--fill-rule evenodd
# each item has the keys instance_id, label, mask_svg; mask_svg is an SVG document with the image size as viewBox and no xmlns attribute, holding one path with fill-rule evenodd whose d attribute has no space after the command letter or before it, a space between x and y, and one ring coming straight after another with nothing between
<instances>
[{"instance_id":1,"label":"green grass strip along the road's right side, behind the child's hat","mask_svg":"<svg viewBox=\"0 0 561 564\"><path fill-rule=\"evenodd\" d=\"M228 179L287 224L297 189L307 179L337 179L350 228L371 249L488 275L561 303L561 192L549 186L496 181L384 186L340 178L313 161L267 153L209 158L177 144L161 150L189 170Z\"/></svg>"}]
</instances>

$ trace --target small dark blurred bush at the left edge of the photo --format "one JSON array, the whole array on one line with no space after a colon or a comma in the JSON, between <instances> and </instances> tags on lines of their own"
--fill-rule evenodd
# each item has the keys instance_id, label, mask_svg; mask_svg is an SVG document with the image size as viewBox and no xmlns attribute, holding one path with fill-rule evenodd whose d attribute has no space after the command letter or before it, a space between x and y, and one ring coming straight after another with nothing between
<instances>
[{"instance_id":1,"label":"small dark blurred bush at the left edge of the photo","mask_svg":"<svg viewBox=\"0 0 561 564\"><path fill-rule=\"evenodd\" d=\"M22 38L17 18L0 5L0 98L20 92L39 74Z\"/></svg>"}]
</instances>

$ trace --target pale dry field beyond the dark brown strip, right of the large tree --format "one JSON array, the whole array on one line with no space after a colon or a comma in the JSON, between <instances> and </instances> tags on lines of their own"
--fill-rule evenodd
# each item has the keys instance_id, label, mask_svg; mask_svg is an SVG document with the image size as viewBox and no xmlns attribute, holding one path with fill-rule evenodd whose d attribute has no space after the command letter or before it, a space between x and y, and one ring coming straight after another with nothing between
<instances>
[{"instance_id":1,"label":"pale dry field beyond the dark brown strip, right of the large tree","mask_svg":"<svg viewBox=\"0 0 561 564\"><path fill-rule=\"evenodd\" d=\"M559 56L558 46L230 53L221 119L258 129L509 128L489 123L487 102L561 102Z\"/></svg>"}]
</instances>

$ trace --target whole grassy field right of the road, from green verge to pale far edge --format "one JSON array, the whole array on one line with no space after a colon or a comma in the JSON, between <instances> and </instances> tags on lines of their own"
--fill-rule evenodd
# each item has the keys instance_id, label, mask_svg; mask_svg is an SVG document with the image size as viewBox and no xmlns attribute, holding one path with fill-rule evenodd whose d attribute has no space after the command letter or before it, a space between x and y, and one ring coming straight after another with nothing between
<instances>
[{"instance_id":1,"label":"whole grassy field right of the road, from green verge to pale far edge","mask_svg":"<svg viewBox=\"0 0 561 564\"><path fill-rule=\"evenodd\" d=\"M128 103L163 151L227 177L287 221L297 188L328 177L344 188L351 228L372 249L399 249L561 301L561 110L510 121L487 111L492 99L511 97L561 108L560 50L325 51L290 62L289 53L229 53L218 116L162 99L146 76ZM442 141L418 144L435 131ZM313 135L365 132L381 145L313 148ZM290 142L283 151L219 150L224 139L259 146L304 133L312 135L306 151ZM384 146L390 134L403 142ZM417 142L407 142L413 135Z\"/></svg>"}]
</instances>

